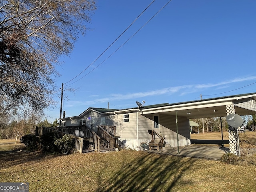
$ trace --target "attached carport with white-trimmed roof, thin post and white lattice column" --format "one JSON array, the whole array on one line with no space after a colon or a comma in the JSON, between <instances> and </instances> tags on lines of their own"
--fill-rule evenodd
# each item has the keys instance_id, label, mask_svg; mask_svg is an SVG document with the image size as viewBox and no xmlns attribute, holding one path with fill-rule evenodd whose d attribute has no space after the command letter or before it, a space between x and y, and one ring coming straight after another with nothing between
<instances>
[{"instance_id":1,"label":"attached carport with white-trimmed roof, thin post and white lattice column","mask_svg":"<svg viewBox=\"0 0 256 192\"><path fill-rule=\"evenodd\" d=\"M178 116L193 118L225 117L228 114L253 115L256 113L256 93L224 96L190 102L180 102L160 106L156 108L141 108L142 114L166 114L176 116L176 125L178 125ZM177 141L178 141L178 126ZM190 129L190 127L188 127ZM237 154L236 133L229 133L230 151ZM178 146L179 153L179 146Z\"/></svg>"}]
</instances>

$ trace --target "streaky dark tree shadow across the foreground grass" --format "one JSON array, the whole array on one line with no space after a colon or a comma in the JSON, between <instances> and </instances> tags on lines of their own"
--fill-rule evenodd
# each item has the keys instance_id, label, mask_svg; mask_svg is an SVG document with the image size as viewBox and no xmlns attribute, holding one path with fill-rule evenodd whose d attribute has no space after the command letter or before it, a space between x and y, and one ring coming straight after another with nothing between
<instances>
[{"instance_id":1,"label":"streaky dark tree shadow across the foreground grass","mask_svg":"<svg viewBox=\"0 0 256 192\"><path fill-rule=\"evenodd\" d=\"M123 160L123 168L107 183L102 184L100 177L98 178L97 191L171 191L174 185L184 184L180 178L195 161L192 158L156 154L144 154L129 164Z\"/></svg>"}]
</instances>

